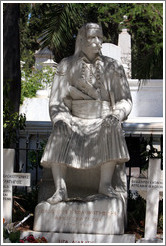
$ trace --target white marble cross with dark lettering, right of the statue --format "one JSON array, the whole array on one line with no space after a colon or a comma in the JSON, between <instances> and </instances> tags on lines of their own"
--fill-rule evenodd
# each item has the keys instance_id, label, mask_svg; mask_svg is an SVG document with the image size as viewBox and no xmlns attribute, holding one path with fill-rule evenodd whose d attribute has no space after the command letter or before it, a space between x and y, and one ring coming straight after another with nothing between
<instances>
[{"instance_id":1,"label":"white marble cross with dark lettering, right of the statue","mask_svg":"<svg viewBox=\"0 0 166 246\"><path fill-rule=\"evenodd\" d=\"M148 178L131 178L130 190L146 191L145 235L141 243L157 243L159 193L163 191L161 159L149 159Z\"/></svg>"}]
</instances>

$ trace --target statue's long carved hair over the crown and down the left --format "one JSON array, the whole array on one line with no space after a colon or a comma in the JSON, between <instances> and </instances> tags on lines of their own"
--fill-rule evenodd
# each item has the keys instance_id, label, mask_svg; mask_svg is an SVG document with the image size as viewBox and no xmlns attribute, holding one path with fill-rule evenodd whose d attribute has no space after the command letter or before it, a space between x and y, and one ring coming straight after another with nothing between
<instances>
[{"instance_id":1,"label":"statue's long carved hair over the crown and down the left","mask_svg":"<svg viewBox=\"0 0 166 246\"><path fill-rule=\"evenodd\" d=\"M86 38L86 31L90 28L98 28L98 29L101 29L101 31L102 31L102 27L100 24L97 24L97 23L86 23L86 24L84 24L79 29L78 34L77 34L74 56L78 57L80 52L82 51L82 46L84 45L84 40Z\"/></svg>"}]
</instances>

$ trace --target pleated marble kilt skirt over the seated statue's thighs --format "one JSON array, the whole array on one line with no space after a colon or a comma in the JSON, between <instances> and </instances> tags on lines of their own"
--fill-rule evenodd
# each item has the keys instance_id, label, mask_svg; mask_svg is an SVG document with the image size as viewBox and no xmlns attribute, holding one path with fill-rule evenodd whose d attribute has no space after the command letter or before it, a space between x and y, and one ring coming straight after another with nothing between
<instances>
[{"instance_id":1,"label":"pleated marble kilt skirt over the seated statue's thighs","mask_svg":"<svg viewBox=\"0 0 166 246\"><path fill-rule=\"evenodd\" d=\"M74 122L72 128L57 123L45 148L42 165L50 167L52 163L62 163L84 169L109 160L118 163L129 160L121 123L114 117L97 122L83 120L79 125Z\"/></svg>"}]
</instances>

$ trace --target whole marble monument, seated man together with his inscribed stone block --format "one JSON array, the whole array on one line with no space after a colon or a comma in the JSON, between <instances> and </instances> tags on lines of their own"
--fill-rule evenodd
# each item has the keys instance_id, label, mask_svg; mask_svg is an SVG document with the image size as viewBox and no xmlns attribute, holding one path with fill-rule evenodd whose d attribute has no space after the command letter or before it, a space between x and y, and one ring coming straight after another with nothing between
<instances>
[{"instance_id":1,"label":"whole marble monument, seated man together with his inscribed stone block","mask_svg":"<svg viewBox=\"0 0 166 246\"><path fill-rule=\"evenodd\" d=\"M102 40L100 25L85 24L52 85L53 131L41 165L55 186L42 188L34 219L34 231L56 234L51 242L134 242L124 234L129 153L121 124L132 99L123 66L101 54Z\"/></svg>"}]
</instances>

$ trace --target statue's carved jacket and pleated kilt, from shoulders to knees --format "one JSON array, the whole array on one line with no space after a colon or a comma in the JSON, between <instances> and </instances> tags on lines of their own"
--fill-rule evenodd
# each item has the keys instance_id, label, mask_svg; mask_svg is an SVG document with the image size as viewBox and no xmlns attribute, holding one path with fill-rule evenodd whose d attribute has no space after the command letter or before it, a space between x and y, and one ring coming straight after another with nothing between
<instances>
[{"instance_id":1,"label":"statue's carved jacket and pleated kilt, from shoulders to knees","mask_svg":"<svg viewBox=\"0 0 166 246\"><path fill-rule=\"evenodd\" d=\"M82 71L83 62L85 71ZM100 71L100 85L96 79L96 62ZM91 85L87 83L89 64L85 56L71 56L58 65L49 103L53 130L41 159L44 167L60 163L85 169L109 161L124 163L129 160L121 122L111 116L117 103L126 102L128 107L128 101L131 102L124 69L114 59L100 56L91 65ZM98 87L100 90L97 90ZM99 117L99 106L103 102L106 110L104 116ZM75 111L79 116L73 116ZM129 111L126 109L125 118Z\"/></svg>"}]
</instances>

